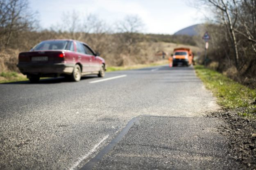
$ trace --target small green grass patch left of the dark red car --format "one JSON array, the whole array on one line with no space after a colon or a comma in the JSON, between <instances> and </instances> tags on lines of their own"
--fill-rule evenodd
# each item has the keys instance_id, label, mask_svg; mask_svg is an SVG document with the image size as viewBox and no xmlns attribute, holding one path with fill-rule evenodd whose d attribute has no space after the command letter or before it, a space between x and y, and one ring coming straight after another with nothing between
<instances>
[{"instance_id":1,"label":"small green grass patch left of the dark red car","mask_svg":"<svg viewBox=\"0 0 256 170\"><path fill-rule=\"evenodd\" d=\"M27 77L23 74L16 72L1 72L0 73L0 83L10 83L15 81L27 81Z\"/></svg>"}]
</instances>

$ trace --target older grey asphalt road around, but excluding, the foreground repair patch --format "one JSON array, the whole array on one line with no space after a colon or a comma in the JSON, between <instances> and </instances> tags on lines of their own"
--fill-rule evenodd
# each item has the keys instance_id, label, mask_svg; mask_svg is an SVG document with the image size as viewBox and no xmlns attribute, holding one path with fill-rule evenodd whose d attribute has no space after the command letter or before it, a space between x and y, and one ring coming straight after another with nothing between
<instances>
[{"instance_id":1,"label":"older grey asphalt road around, but excluding, the foreground repair patch","mask_svg":"<svg viewBox=\"0 0 256 170\"><path fill-rule=\"evenodd\" d=\"M0 169L79 169L136 116L201 119L219 109L193 67L109 72L104 78L110 79L1 84Z\"/></svg>"}]
</instances>

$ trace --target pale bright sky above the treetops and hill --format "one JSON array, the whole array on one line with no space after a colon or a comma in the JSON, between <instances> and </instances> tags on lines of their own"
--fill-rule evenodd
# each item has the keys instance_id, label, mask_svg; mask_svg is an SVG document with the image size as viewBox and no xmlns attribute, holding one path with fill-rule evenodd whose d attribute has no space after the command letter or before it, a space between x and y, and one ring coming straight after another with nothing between
<instances>
[{"instance_id":1,"label":"pale bright sky above the treetops and hill","mask_svg":"<svg viewBox=\"0 0 256 170\"><path fill-rule=\"evenodd\" d=\"M127 15L138 15L147 33L173 34L190 25L204 22L202 11L188 0L30 0L39 12L43 28L61 22L61 15L73 10L82 15L95 14L109 25Z\"/></svg>"}]
</instances>

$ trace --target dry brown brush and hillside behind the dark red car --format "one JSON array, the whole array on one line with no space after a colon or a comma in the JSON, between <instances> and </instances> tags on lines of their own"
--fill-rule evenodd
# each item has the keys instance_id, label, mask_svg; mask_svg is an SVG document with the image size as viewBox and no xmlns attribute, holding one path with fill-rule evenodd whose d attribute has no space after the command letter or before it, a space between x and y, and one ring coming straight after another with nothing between
<instances>
[{"instance_id":1,"label":"dry brown brush and hillside behind the dark red car","mask_svg":"<svg viewBox=\"0 0 256 170\"><path fill-rule=\"evenodd\" d=\"M80 34L80 33L76 33ZM25 36L27 35L27 36ZM149 64L161 60L161 56L156 56L158 51L165 51L165 57L168 58L176 47L190 47L193 51L200 51L198 47L191 45L182 45L172 42L152 42L147 41L144 34L136 34L140 38L136 43L126 45L125 42L120 42L121 34L87 34L83 37L78 37L77 40L88 43L93 49L98 51L105 58L106 64L109 66L130 66L136 64ZM31 31L23 32L22 36L17 36L11 39L11 45L7 48L2 48L0 51L0 72L15 71L18 63L18 54L21 51L28 51L46 39L72 38L67 32L54 31ZM121 40L120 40L121 39ZM16 41L16 42L15 42Z\"/></svg>"}]
</instances>

